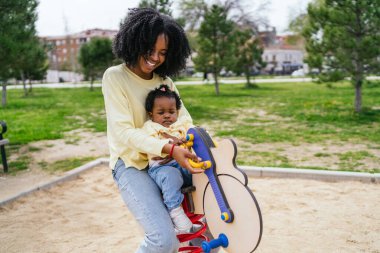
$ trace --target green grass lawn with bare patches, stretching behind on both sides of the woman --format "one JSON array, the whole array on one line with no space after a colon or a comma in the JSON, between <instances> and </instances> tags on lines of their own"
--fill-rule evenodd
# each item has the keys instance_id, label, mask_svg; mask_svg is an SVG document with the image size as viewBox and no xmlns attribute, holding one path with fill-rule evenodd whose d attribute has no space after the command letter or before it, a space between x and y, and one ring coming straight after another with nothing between
<instances>
[{"instance_id":1,"label":"green grass lawn with bare patches, stretching behind on both sides of the woman","mask_svg":"<svg viewBox=\"0 0 380 253\"><path fill-rule=\"evenodd\" d=\"M291 148L324 145L314 152L316 159L336 157L338 170L360 169L366 159L380 164L380 86L363 87L363 112L353 110L354 89L349 83L260 84L247 89L243 84L178 86L195 124L209 128L216 138L234 138L239 143L239 164L326 169L323 165L299 166L286 151ZM23 97L22 90L8 90L8 104L0 109L12 142L11 149L38 140L59 139L78 128L106 130L100 88L34 89ZM329 145L364 144L370 150L328 149ZM263 147L266 149L258 149ZM271 148L268 148L271 147ZM24 164L27 159L24 159ZM363 166L362 166L363 167Z\"/></svg>"}]
</instances>

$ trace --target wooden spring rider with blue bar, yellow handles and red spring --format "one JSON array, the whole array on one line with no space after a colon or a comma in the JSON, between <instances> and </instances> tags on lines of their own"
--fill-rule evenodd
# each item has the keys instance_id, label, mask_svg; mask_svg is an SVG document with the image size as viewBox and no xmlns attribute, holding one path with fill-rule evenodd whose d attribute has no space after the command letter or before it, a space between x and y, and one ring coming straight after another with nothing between
<instances>
[{"instance_id":1,"label":"wooden spring rider with blue bar, yellow handles and red spring","mask_svg":"<svg viewBox=\"0 0 380 253\"><path fill-rule=\"evenodd\" d=\"M210 252L223 247L229 253L253 252L260 243L263 223L259 205L247 187L247 175L235 164L236 144L225 139L215 145L203 128L191 128L187 140L202 161L190 161L205 173L193 175L193 187L185 189L184 210L199 228L194 233L178 235L180 242L203 239L201 247L185 246L180 252ZM207 221L202 221L203 216ZM204 232L206 225L214 240Z\"/></svg>"}]
</instances>

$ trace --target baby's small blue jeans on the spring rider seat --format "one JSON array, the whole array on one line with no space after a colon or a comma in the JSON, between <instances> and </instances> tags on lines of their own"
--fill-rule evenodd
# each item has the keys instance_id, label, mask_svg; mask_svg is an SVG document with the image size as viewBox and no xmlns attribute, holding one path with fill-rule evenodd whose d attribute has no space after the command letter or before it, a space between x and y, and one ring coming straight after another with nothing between
<instances>
[{"instance_id":1,"label":"baby's small blue jeans on the spring rider seat","mask_svg":"<svg viewBox=\"0 0 380 253\"><path fill-rule=\"evenodd\" d=\"M164 203L169 211L181 205L182 186L192 185L191 174L173 160L167 164L149 168L148 174L161 189Z\"/></svg>"}]
</instances>

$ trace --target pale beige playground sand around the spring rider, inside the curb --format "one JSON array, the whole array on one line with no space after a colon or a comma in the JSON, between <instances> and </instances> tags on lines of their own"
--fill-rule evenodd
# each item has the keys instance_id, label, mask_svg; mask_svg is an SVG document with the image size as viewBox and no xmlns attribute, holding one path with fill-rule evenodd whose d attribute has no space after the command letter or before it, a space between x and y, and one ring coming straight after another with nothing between
<instances>
[{"instance_id":1,"label":"pale beige playground sand around the spring rider, inside the curb","mask_svg":"<svg viewBox=\"0 0 380 253\"><path fill-rule=\"evenodd\" d=\"M250 178L256 252L380 252L380 185ZM0 252L134 252L142 231L107 166L0 208ZM234 252L235 253L235 252Z\"/></svg>"}]
</instances>

